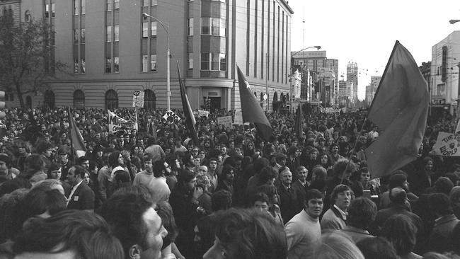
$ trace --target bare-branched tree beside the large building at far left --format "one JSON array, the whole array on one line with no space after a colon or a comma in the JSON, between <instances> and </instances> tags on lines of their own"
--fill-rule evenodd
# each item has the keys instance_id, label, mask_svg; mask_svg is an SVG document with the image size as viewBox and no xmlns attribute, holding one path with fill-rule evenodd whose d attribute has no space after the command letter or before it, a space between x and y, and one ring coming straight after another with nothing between
<instances>
[{"instance_id":1,"label":"bare-branched tree beside the large building at far left","mask_svg":"<svg viewBox=\"0 0 460 259\"><path fill-rule=\"evenodd\" d=\"M43 90L54 71L66 67L54 60L52 45L54 33L48 23L18 22L12 12L0 17L0 87L16 93L21 108L23 95Z\"/></svg>"}]
</instances>

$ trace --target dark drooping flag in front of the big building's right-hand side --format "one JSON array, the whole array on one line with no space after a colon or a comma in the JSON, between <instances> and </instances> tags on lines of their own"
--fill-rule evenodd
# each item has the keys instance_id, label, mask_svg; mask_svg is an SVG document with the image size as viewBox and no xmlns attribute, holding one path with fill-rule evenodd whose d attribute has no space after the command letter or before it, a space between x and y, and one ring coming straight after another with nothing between
<instances>
[{"instance_id":1,"label":"dark drooping flag in front of the big building's right-hand side","mask_svg":"<svg viewBox=\"0 0 460 259\"><path fill-rule=\"evenodd\" d=\"M254 96L254 92L251 90L246 77L241 72L240 68L236 66L238 70L238 85L240 88L240 99L241 99L241 112L243 113L243 122L253 122L255 129L266 142L270 141L272 135L272 126L268 122L267 116L263 113L262 108L259 105L258 100Z\"/></svg>"}]
</instances>

